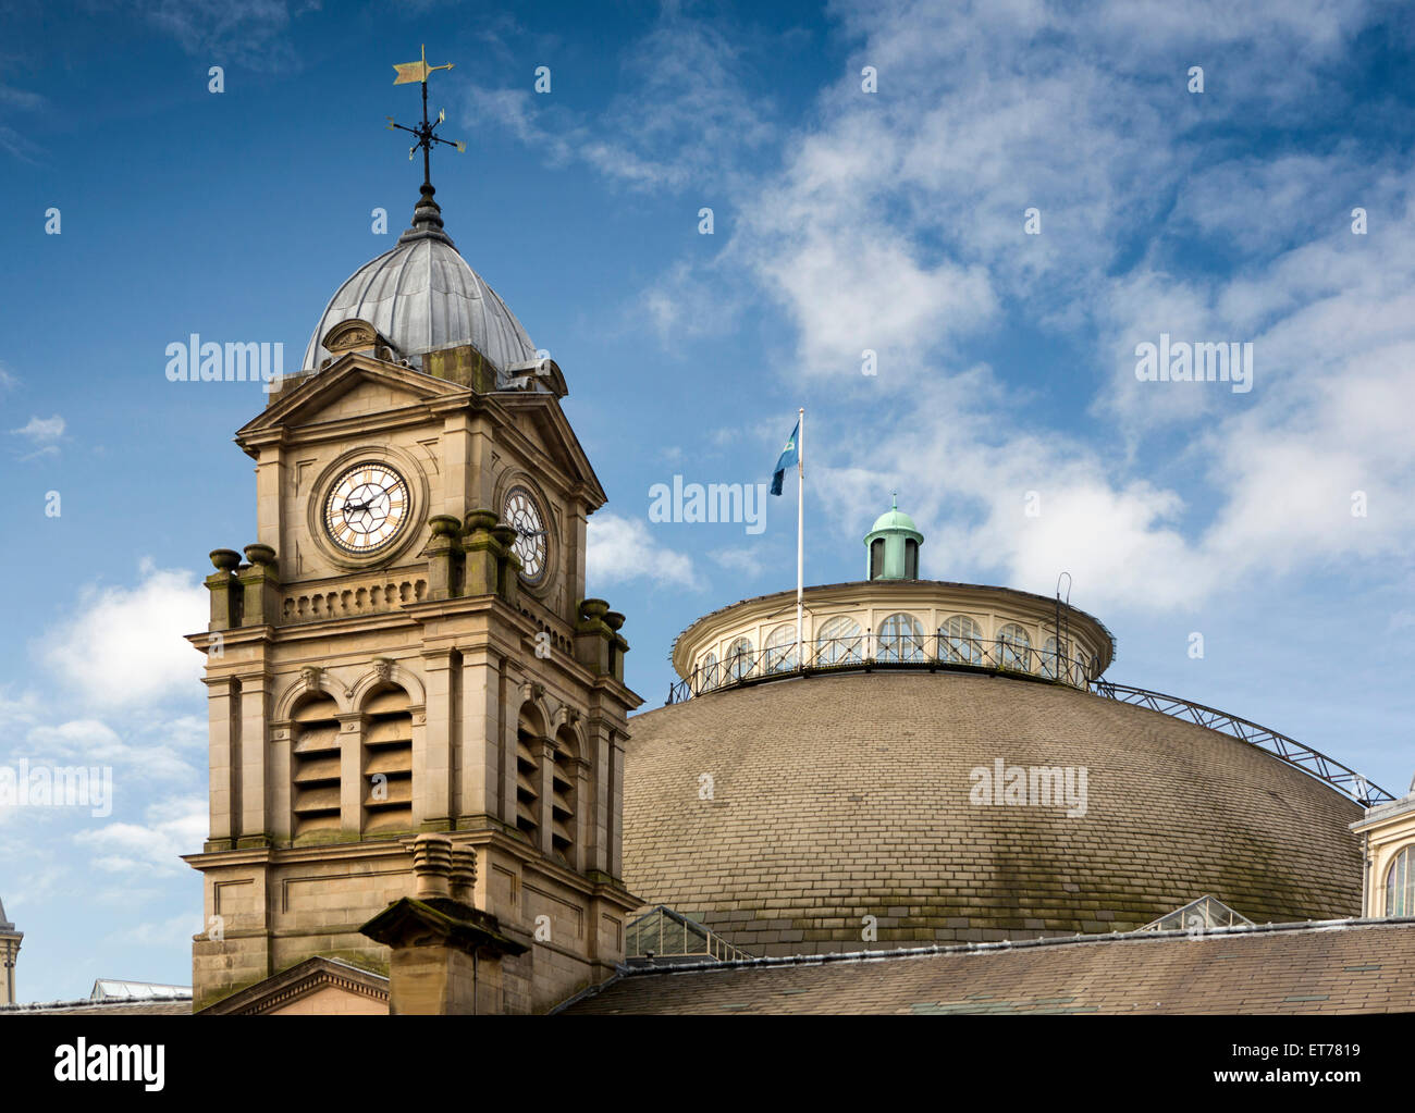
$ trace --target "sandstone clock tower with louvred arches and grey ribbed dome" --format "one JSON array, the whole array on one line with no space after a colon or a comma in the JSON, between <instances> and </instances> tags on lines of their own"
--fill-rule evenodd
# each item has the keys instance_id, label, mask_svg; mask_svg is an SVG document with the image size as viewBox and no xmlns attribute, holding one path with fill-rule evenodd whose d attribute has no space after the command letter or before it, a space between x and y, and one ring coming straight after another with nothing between
<instances>
[{"instance_id":1,"label":"sandstone clock tower with louvred arches and grey ribbed dome","mask_svg":"<svg viewBox=\"0 0 1415 1113\"><path fill-rule=\"evenodd\" d=\"M413 895L429 832L509 940L478 1011L542 1011L623 959L641 700L624 617L586 598L606 495L565 395L424 184L236 434L258 540L212 553L191 636L211 713L211 836L185 858L205 888L195 1008L311 956L385 973L361 925Z\"/></svg>"}]
</instances>

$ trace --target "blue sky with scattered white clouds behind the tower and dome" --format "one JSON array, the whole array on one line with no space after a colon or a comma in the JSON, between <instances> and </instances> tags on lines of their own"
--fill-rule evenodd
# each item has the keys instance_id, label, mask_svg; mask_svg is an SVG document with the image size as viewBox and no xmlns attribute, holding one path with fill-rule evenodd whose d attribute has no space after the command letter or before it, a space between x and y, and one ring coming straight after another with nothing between
<instances>
[{"instance_id":1,"label":"blue sky with scattered white clouds behind the tower and dome","mask_svg":"<svg viewBox=\"0 0 1415 1113\"><path fill-rule=\"evenodd\" d=\"M649 488L768 481L805 406L808 583L860 576L897 489L925 576L1067 570L1111 679L1404 792L1412 28L1358 0L7 6L0 765L115 771L110 816L0 808L21 998L190 980L205 700L180 635L207 552L255 539L231 434L263 396L170 383L164 349L283 342L293 368L391 243L371 211L410 215L383 119L416 115L392 64L422 42L468 141L434 164L447 228L570 385L610 494L591 591L645 707L675 634L795 557L790 489L753 536L652 523ZM1252 342L1252 390L1139 382L1162 332Z\"/></svg>"}]
</instances>

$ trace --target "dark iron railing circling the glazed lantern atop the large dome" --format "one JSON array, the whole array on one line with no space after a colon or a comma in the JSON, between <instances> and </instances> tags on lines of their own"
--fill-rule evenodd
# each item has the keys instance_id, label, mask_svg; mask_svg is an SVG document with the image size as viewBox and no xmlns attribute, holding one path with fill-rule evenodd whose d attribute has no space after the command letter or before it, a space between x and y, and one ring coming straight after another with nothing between
<instances>
[{"instance_id":1,"label":"dark iron railing circling the glazed lantern atop the large dome","mask_svg":"<svg viewBox=\"0 0 1415 1113\"><path fill-rule=\"evenodd\" d=\"M1054 680L1084 689L1099 670L1099 660L1080 660L1063 649L1037 649L1007 639L925 634L856 634L807 642L805 668L797 660L797 643L730 653L713 665L700 665L685 680L668 687L668 703L682 703L724 687L812 676L824 672L873 672L896 669L949 669L1005 672Z\"/></svg>"}]
</instances>

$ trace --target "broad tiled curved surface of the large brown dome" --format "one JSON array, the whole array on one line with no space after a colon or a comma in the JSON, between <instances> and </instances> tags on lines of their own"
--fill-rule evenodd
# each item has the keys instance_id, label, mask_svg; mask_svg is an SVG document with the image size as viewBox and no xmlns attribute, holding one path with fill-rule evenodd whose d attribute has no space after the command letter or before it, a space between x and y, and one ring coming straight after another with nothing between
<instances>
[{"instance_id":1,"label":"broad tiled curved surface of the large brown dome","mask_svg":"<svg viewBox=\"0 0 1415 1113\"><path fill-rule=\"evenodd\" d=\"M1064 684L815 676L698 696L630 733L625 884L757 955L1128 931L1204 894L1259 923L1360 914L1357 803ZM972 803L974 771L999 758L1084 767L1085 815Z\"/></svg>"}]
</instances>

